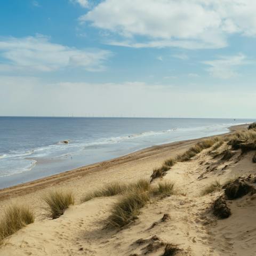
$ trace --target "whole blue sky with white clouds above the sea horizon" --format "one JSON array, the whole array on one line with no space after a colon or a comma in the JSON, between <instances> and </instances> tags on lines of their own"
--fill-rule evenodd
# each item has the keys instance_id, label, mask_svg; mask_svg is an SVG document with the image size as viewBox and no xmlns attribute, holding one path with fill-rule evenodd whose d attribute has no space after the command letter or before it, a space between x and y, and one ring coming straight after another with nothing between
<instances>
[{"instance_id":1,"label":"whole blue sky with white clouds above the sea horizon","mask_svg":"<svg viewBox=\"0 0 256 256\"><path fill-rule=\"evenodd\" d=\"M255 118L254 0L0 1L0 116Z\"/></svg>"}]
</instances>

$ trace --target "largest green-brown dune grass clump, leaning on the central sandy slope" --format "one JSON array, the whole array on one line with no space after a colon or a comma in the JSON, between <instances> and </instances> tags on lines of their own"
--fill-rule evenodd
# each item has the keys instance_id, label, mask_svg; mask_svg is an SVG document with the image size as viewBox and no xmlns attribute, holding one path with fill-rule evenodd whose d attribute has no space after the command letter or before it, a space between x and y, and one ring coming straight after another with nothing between
<instances>
[{"instance_id":1,"label":"largest green-brown dune grass clump, leaning on the central sandy slope","mask_svg":"<svg viewBox=\"0 0 256 256\"><path fill-rule=\"evenodd\" d=\"M150 200L148 191L134 189L120 198L111 210L108 223L113 227L123 227L137 219L140 209Z\"/></svg>"}]
</instances>

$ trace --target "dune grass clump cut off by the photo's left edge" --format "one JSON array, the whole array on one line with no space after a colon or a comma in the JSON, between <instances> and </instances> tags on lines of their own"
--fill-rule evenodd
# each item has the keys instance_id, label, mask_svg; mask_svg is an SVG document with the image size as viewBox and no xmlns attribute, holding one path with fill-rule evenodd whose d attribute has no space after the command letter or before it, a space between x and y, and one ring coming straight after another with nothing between
<instances>
[{"instance_id":1,"label":"dune grass clump cut off by the photo's left edge","mask_svg":"<svg viewBox=\"0 0 256 256\"><path fill-rule=\"evenodd\" d=\"M35 220L34 212L26 205L11 205L4 211L0 220L0 244L7 236L26 227Z\"/></svg>"}]
</instances>

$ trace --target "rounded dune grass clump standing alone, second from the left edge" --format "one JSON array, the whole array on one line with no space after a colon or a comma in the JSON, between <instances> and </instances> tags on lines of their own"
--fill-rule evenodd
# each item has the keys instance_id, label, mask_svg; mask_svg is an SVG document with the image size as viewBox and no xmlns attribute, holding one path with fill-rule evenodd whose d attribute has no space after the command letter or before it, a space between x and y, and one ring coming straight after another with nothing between
<instances>
[{"instance_id":1,"label":"rounded dune grass clump standing alone, second from the left edge","mask_svg":"<svg viewBox=\"0 0 256 256\"><path fill-rule=\"evenodd\" d=\"M46 203L46 217L59 218L70 205L74 204L74 195L70 191L55 190L43 197Z\"/></svg>"}]
</instances>

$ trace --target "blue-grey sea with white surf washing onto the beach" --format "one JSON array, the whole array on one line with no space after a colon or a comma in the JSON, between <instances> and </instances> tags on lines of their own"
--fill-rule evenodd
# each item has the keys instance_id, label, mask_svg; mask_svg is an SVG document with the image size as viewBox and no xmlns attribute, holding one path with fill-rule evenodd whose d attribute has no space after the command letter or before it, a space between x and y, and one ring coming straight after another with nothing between
<instances>
[{"instance_id":1,"label":"blue-grey sea with white surf washing onto the beach","mask_svg":"<svg viewBox=\"0 0 256 256\"><path fill-rule=\"evenodd\" d=\"M231 125L253 121L0 117L0 188L153 145L225 133Z\"/></svg>"}]
</instances>

